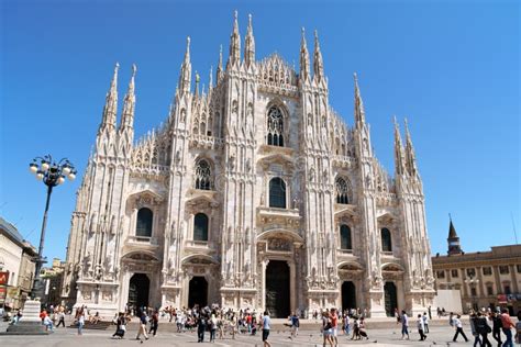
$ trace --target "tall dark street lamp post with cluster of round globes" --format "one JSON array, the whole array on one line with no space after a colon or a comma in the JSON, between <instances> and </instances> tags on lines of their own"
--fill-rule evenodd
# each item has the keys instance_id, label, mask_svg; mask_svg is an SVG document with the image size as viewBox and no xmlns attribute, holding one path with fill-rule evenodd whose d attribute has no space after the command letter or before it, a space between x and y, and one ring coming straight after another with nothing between
<instances>
[{"instance_id":1,"label":"tall dark street lamp post with cluster of round globes","mask_svg":"<svg viewBox=\"0 0 521 347\"><path fill-rule=\"evenodd\" d=\"M63 184L65 182L65 178L74 180L76 178L76 169L67 158L64 158L56 163L55 160L53 160L53 157L51 157L51 155L34 158L33 161L29 165L29 169L32 174L35 175L37 180L43 181L44 184L47 186L47 200L45 202L45 212L42 222L42 233L40 235L38 257L36 259L33 289L31 291L31 298L34 300L38 294L42 294L42 281L40 277L40 271L42 270L42 265L45 262L45 258L43 257L43 248L45 243L45 227L47 226L47 212L51 202L51 194L53 192L54 187Z\"/></svg>"}]
</instances>

